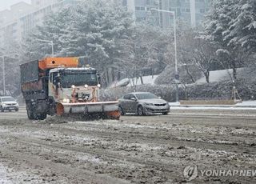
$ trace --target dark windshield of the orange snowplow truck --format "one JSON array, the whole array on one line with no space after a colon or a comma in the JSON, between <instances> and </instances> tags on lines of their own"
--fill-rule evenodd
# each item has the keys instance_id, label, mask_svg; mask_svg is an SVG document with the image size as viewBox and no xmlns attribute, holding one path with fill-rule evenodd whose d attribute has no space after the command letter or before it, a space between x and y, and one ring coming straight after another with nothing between
<instances>
[{"instance_id":1,"label":"dark windshield of the orange snowplow truck","mask_svg":"<svg viewBox=\"0 0 256 184\"><path fill-rule=\"evenodd\" d=\"M61 77L61 85L63 88L74 86L97 86L97 74L63 74Z\"/></svg>"}]
</instances>

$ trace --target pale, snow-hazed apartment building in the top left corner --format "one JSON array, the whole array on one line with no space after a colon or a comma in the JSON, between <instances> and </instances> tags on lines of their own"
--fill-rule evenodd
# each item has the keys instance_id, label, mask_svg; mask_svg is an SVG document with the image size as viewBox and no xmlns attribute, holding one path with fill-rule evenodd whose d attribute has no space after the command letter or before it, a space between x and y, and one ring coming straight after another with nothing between
<instances>
[{"instance_id":1,"label":"pale, snow-hazed apartment building in the top left corner","mask_svg":"<svg viewBox=\"0 0 256 184\"><path fill-rule=\"evenodd\" d=\"M10 10L0 11L0 46L16 41L30 33L51 11L59 10L76 0L31 0L31 4L18 2Z\"/></svg>"}]
</instances>

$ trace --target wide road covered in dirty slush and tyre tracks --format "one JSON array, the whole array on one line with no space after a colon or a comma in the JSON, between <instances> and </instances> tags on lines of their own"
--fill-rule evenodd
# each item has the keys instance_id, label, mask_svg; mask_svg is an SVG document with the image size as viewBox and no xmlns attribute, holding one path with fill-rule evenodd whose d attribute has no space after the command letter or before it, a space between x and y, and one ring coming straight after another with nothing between
<instances>
[{"instance_id":1,"label":"wide road covered in dirty slush and tyre tracks","mask_svg":"<svg viewBox=\"0 0 256 184\"><path fill-rule=\"evenodd\" d=\"M0 183L255 183L252 176L199 170L256 170L256 110L171 110L120 121L29 121L0 113Z\"/></svg>"}]
</instances>

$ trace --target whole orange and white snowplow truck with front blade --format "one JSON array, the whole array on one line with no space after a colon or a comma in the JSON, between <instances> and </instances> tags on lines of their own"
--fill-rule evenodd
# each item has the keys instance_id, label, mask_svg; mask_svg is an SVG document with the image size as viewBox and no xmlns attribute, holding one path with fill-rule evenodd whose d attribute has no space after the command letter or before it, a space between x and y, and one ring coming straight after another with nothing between
<instances>
[{"instance_id":1,"label":"whole orange and white snowplow truck with front blade","mask_svg":"<svg viewBox=\"0 0 256 184\"><path fill-rule=\"evenodd\" d=\"M45 58L20 68L29 119L43 120L47 114L120 117L118 101L100 101L100 75L82 58Z\"/></svg>"}]
</instances>

